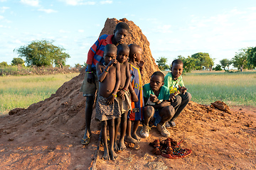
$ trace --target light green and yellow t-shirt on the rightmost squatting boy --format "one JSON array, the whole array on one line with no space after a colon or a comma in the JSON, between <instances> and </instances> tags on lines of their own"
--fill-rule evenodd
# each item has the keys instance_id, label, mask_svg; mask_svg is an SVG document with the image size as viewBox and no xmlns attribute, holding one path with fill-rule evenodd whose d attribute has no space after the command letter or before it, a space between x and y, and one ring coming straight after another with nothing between
<instances>
[{"instance_id":1,"label":"light green and yellow t-shirt on the rightmost squatting boy","mask_svg":"<svg viewBox=\"0 0 256 170\"><path fill-rule=\"evenodd\" d=\"M171 72L166 74L166 76L164 77L164 86L168 87L170 94L178 92L178 85L184 86L182 76L174 80L174 77L172 76Z\"/></svg>"}]
</instances>

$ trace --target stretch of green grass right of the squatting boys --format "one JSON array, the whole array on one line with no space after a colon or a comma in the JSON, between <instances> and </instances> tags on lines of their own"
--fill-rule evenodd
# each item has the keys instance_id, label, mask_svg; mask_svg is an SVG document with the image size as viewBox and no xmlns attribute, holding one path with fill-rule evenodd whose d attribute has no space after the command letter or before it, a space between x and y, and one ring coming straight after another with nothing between
<instances>
[{"instance_id":1,"label":"stretch of green grass right of the squatting boys","mask_svg":"<svg viewBox=\"0 0 256 170\"><path fill-rule=\"evenodd\" d=\"M219 100L228 106L256 106L256 71L191 72L183 81L196 103L210 105Z\"/></svg>"}]
</instances>

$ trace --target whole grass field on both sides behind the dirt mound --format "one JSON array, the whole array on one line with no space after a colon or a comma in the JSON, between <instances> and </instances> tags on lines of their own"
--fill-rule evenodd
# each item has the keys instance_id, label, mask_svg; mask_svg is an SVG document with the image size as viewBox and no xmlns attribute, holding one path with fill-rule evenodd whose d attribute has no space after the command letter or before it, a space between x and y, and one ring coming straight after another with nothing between
<instances>
[{"instance_id":1,"label":"whole grass field on both sides behind the dirt mound","mask_svg":"<svg viewBox=\"0 0 256 170\"><path fill-rule=\"evenodd\" d=\"M50 97L65 81L77 75L0 77L0 115ZM183 75L183 81L196 103L210 105L220 100L228 106L256 106L256 71L191 72Z\"/></svg>"}]
</instances>

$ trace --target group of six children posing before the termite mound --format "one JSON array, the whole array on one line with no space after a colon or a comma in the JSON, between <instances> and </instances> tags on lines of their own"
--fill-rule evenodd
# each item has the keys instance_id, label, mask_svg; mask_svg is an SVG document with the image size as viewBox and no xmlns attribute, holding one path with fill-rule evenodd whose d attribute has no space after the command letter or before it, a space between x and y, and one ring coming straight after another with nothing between
<instances>
[{"instance_id":1,"label":"group of six children posing before the termite mound","mask_svg":"<svg viewBox=\"0 0 256 170\"><path fill-rule=\"evenodd\" d=\"M191 94L186 92L183 85L181 60L174 60L171 73L166 77L162 72L154 72L150 83L143 86L142 48L124 43L128 33L127 23L118 23L114 35L102 35L92 45L81 87L83 95L87 97L82 145L90 142L92 105L97 90L95 117L101 121L103 158L107 160L116 159L114 151L126 149L124 141L137 143L141 140L137 135L141 122L141 137L149 137L152 124L156 125L161 135L169 137L170 133L166 128L175 126L175 118L191 100ZM109 147L107 126L110 134ZM119 127L120 137L117 142Z\"/></svg>"}]
</instances>

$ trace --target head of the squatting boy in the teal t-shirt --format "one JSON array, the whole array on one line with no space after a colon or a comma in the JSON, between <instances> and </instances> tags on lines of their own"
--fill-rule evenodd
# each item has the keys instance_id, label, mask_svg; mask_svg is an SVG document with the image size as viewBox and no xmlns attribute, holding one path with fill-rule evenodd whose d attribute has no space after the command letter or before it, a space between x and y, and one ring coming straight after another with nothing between
<instances>
[{"instance_id":1,"label":"head of the squatting boy in the teal t-shirt","mask_svg":"<svg viewBox=\"0 0 256 170\"><path fill-rule=\"evenodd\" d=\"M154 72L150 78L150 87L153 91L159 91L161 86L164 86L164 73Z\"/></svg>"}]
</instances>

